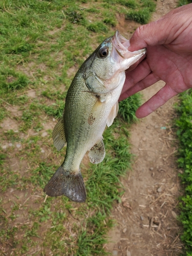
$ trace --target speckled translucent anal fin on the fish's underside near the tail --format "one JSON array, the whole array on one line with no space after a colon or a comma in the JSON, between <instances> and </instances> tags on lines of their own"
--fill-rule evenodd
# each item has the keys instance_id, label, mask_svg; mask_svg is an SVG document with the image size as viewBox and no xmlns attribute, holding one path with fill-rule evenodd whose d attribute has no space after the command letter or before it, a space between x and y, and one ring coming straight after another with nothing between
<instances>
[{"instance_id":1,"label":"speckled translucent anal fin on the fish's underside near the tail","mask_svg":"<svg viewBox=\"0 0 192 256\"><path fill-rule=\"evenodd\" d=\"M102 138L88 151L91 163L100 163L104 159L105 150Z\"/></svg>"}]
</instances>

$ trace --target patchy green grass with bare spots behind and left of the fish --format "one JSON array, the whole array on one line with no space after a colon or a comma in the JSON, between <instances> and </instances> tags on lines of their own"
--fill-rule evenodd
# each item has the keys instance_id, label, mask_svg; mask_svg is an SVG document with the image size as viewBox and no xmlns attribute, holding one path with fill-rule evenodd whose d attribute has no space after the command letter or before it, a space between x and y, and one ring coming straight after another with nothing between
<instances>
[{"instance_id":1,"label":"patchy green grass with bare spots behind and left of the fish","mask_svg":"<svg viewBox=\"0 0 192 256\"><path fill-rule=\"evenodd\" d=\"M110 211L121 200L119 178L131 162L127 122L135 119L139 98L120 102L118 118L103 135L104 161L82 162L86 203L66 197L48 197L44 203L42 188L65 156L66 148L58 152L51 133L75 72L114 33L117 13L150 8L148 3L0 2L0 121L7 125L0 128L2 255L108 254L103 244L113 225Z\"/></svg>"}]
</instances>

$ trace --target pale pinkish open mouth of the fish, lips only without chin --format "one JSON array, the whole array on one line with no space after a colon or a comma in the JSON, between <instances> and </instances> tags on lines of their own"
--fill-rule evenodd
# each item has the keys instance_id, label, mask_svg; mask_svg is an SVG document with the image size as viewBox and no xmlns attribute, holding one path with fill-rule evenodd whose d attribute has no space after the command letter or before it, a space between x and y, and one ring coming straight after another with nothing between
<instances>
[{"instance_id":1,"label":"pale pinkish open mouth of the fish, lips only without chin","mask_svg":"<svg viewBox=\"0 0 192 256\"><path fill-rule=\"evenodd\" d=\"M116 50L118 55L120 55L122 58L134 57L139 54L144 55L146 52L146 48L138 51L130 52L128 50L128 48L130 47L130 41L124 38L124 36L122 36L118 30L115 32L114 36L112 37L112 44L113 44L113 48L115 48L112 50L113 51L112 54L114 55L114 57L116 55L114 50Z\"/></svg>"}]
</instances>

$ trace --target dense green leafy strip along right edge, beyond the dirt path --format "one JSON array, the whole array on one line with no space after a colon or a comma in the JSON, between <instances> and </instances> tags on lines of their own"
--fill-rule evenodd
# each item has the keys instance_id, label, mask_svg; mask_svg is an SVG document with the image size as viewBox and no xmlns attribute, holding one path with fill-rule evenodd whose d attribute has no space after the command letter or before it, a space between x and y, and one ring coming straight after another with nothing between
<instances>
[{"instance_id":1,"label":"dense green leafy strip along right edge, beyond the dirt path","mask_svg":"<svg viewBox=\"0 0 192 256\"><path fill-rule=\"evenodd\" d=\"M180 203L180 221L183 224L184 232L181 240L186 244L186 255L192 255L192 91L189 90L180 95L180 102L176 110L178 118L176 120L177 136L179 139L178 166L183 170L181 177L185 187L185 195Z\"/></svg>"}]
</instances>

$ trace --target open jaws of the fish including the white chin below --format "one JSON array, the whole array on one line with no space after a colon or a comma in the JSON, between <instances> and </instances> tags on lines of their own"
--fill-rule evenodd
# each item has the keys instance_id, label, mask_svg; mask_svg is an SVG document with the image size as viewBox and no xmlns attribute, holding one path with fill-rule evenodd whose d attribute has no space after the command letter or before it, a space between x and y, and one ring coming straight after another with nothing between
<instances>
[{"instance_id":1,"label":"open jaws of the fish including the white chin below","mask_svg":"<svg viewBox=\"0 0 192 256\"><path fill-rule=\"evenodd\" d=\"M111 52L111 61L118 63L118 71L129 69L135 62L137 62L145 53L146 48L138 51L130 52L130 41L119 34L118 30L112 37L113 49Z\"/></svg>"}]
</instances>

